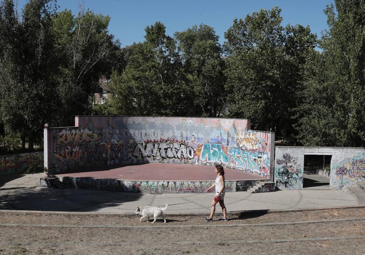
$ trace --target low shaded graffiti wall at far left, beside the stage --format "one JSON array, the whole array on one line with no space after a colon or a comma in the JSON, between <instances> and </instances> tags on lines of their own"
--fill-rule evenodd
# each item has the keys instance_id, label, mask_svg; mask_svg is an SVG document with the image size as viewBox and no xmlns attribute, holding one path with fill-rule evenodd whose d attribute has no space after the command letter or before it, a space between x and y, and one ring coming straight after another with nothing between
<instances>
[{"instance_id":1,"label":"low shaded graffiti wall at far left, beside the stage","mask_svg":"<svg viewBox=\"0 0 365 255\"><path fill-rule=\"evenodd\" d=\"M43 152L0 155L0 175L26 171L32 162L42 162Z\"/></svg>"}]
</instances>

